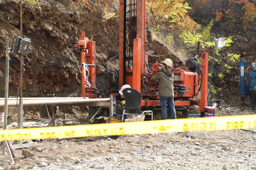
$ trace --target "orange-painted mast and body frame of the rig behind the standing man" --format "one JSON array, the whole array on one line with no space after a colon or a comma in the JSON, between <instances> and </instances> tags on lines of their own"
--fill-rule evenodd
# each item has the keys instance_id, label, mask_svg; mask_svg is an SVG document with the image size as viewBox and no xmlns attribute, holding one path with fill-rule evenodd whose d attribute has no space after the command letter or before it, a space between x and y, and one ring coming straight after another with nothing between
<instances>
[{"instance_id":1,"label":"orange-painted mast and body frame of the rig behind the standing man","mask_svg":"<svg viewBox=\"0 0 256 170\"><path fill-rule=\"evenodd\" d=\"M148 56L146 55L146 45L147 45L147 35L146 27L148 25L148 18L146 18L146 1L145 0L136 0L136 8L132 7L134 4L127 4L126 0L120 0L120 26L119 26L119 89L124 84L129 84L132 88L141 91L143 89L144 79L150 80L152 74L148 73L148 68L146 63L148 63ZM136 15L133 15L134 18L129 16L128 22L126 21L127 8L131 11L135 11ZM133 9L132 9L133 8ZM124 10L125 9L125 10ZM131 24L136 21L136 38L133 39L133 55L132 59L130 56L127 56L126 42L127 42L127 24ZM126 24L124 24L126 23ZM134 28L134 27L133 27ZM133 35L132 35L133 36ZM131 42L129 42L131 43ZM199 46L199 44L198 44ZM199 47L198 52L199 54ZM132 61L132 69L126 68L126 61ZM129 64L129 63L128 63ZM200 67L198 66L198 69ZM158 72L158 64L152 64L153 73ZM202 53L202 64L201 64L201 99L200 100L187 100L188 98L194 98L197 96L198 87L199 87L199 72L193 72L190 70L173 70L174 74L180 73L180 77L176 76L174 78L174 84L184 85L186 89L189 89L188 92L180 92L175 95L174 101L175 106L190 106L190 105L200 105L200 111L204 112L204 107L207 106L207 81L208 81L208 53L206 50ZM142 77L143 76L143 77ZM151 82L152 84L152 82ZM154 87L152 87L154 89ZM152 89L151 89L152 90ZM115 95L115 93L111 93ZM177 101L177 99L184 98L186 100ZM156 107L160 106L158 94L142 93L142 101L140 107Z\"/></svg>"}]
</instances>

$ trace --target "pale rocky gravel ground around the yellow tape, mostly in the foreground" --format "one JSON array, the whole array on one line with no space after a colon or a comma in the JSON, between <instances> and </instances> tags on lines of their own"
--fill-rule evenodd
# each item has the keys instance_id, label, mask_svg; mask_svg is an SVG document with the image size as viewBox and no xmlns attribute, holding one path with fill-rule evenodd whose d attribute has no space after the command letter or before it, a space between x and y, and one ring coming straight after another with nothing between
<instances>
[{"instance_id":1,"label":"pale rocky gravel ground around the yellow tape, mostly in the foreground","mask_svg":"<svg viewBox=\"0 0 256 170\"><path fill-rule=\"evenodd\" d=\"M216 116L249 114L255 113L239 107L216 111ZM34 148L14 150L15 165L0 162L0 170L256 169L255 141L256 135L244 130L40 140ZM9 162L4 155L0 160Z\"/></svg>"}]
</instances>

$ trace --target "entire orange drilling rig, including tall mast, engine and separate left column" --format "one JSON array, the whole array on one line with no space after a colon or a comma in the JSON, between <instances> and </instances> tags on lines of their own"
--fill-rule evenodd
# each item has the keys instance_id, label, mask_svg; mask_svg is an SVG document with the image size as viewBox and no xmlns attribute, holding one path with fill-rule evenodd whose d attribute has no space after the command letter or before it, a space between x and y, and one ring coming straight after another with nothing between
<instances>
[{"instance_id":1,"label":"entire orange drilling rig, including tall mast, engine and separate left column","mask_svg":"<svg viewBox=\"0 0 256 170\"><path fill-rule=\"evenodd\" d=\"M151 66L148 64L148 55L146 54L148 18L146 16L146 0L120 0L120 27L119 27L119 89L128 84L142 94L140 107L143 109L156 110L155 119L159 119L157 112L160 113L160 101L158 96L158 81L151 81L151 77L159 71L160 63L156 62ZM89 43L90 42L90 43ZM88 45L87 45L87 44ZM84 45L86 44L86 45ZM81 71L82 71L82 93L81 96L94 98L97 96L95 86L86 86L83 80L85 63L84 58L88 56L89 80L95 85L95 45L84 38L81 33L81 39L76 47L80 48L81 53ZM199 43L197 47L199 55ZM83 58L83 60L82 60ZM90 58L90 59L89 59ZM201 54L201 67L194 59L186 61L186 69L170 68L174 73L174 105L191 106L199 105L201 115L204 113L204 107L207 106L207 81L208 81L208 53L206 50ZM201 76L200 76L201 74ZM91 77L91 78L90 78ZM201 77L201 78L200 78ZM86 78L85 78L86 79ZM88 79L88 78L87 78ZM200 81L201 80L201 81ZM91 89L90 89L91 88ZM195 100L198 92L201 91L200 100ZM115 96L115 92L110 95ZM157 111L159 110L159 111ZM187 109L182 108L182 117L188 117ZM158 114L159 115L159 114Z\"/></svg>"}]
</instances>

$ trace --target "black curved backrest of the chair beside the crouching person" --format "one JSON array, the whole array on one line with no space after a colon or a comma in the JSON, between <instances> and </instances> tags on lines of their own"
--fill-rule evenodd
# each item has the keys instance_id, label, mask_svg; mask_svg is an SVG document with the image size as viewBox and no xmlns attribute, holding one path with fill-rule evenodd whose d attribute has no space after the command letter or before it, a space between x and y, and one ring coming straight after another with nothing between
<instances>
[{"instance_id":1,"label":"black curved backrest of the chair beside the crouching person","mask_svg":"<svg viewBox=\"0 0 256 170\"><path fill-rule=\"evenodd\" d=\"M124 100L125 100L125 112L140 114L140 101L141 94L138 90L133 88L126 88L123 90Z\"/></svg>"}]
</instances>

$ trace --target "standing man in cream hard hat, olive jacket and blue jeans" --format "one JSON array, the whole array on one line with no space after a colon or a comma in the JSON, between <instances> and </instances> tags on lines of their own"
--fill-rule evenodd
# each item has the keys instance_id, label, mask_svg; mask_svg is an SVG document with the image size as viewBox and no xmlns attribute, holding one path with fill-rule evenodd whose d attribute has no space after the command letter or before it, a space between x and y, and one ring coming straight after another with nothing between
<instances>
[{"instance_id":1,"label":"standing man in cream hard hat, olive jacket and blue jeans","mask_svg":"<svg viewBox=\"0 0 256 170\"><path fill-rule=\"evenodd\" d=\"M153 76L151 79L153 81L159 80L159 97L160 97L160 106L161 106L161 119L167 119L167 107L171 115L171 119L176 119L176 112L174 108L174 86L173 86L173 77L174 74L169 68L172 67L172 60L166 58L163 61L161 70Z\"/></svg>"}]
</instances>

